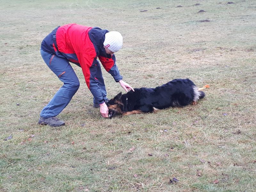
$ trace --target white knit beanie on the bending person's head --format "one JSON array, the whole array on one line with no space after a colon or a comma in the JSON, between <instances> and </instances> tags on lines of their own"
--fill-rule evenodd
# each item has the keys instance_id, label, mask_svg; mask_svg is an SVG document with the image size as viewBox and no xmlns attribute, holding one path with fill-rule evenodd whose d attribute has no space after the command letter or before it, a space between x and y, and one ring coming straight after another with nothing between
<instances>
[{"instance_id":1,"label":"white knit beanie on the bending person's head","mask_svg":"<svg viewBox=\"0 0 256 192\"><path fill-rule=\"evenodd\" d=\"M112 52L117 52L123 45L123 36L117 31L110 31L105 34L103 45Z\"/></svg>"}]
</instances>

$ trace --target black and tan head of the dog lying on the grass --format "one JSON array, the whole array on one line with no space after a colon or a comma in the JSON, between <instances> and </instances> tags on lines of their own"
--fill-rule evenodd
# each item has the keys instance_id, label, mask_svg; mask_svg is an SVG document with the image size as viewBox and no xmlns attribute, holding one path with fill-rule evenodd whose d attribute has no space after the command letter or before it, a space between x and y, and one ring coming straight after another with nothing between
<instances>
[{"instance_id":1,"label":"black and tan head of the dog lying on the grass","mask_svg":"<svg viewBox=\"0 0 256 192\"><path fill-rule=\"evenodd\" d=\"M122 92L118 93L113 99L108 101L108 117L112 117L124 113L124 103L121 100Z\"/></svg>"}]
</instances>

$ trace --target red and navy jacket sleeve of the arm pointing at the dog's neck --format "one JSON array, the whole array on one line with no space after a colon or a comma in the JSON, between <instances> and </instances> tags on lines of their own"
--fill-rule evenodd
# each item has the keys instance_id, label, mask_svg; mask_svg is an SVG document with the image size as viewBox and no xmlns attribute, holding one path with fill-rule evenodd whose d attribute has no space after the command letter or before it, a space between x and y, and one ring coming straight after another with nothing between
<instances>
[{"instance_id":1,"label":"red and navy jacket sleeve of the arm pointing at the dog's neck","mask_svg":"<svg viewBox=\"0 0 256 192\"><path fill-rule=\"evenodd\" d=\"M106 71L114 77L116 82L123 79L123 76L120 75L119 70L116 66L115 55L112 55L110 59L107 57L99 56L99 60L102 66L106 69Z\"/></svg>"}]
</instances>

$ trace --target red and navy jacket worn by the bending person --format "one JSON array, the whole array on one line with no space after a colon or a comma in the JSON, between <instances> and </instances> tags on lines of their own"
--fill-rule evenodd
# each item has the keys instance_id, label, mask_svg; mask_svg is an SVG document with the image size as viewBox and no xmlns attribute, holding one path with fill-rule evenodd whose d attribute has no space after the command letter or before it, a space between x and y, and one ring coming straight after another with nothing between
<instances>
[{"instance_id":1,"label":"red and navy jacket worn by the bending person","mask_svg":"<svg viewBox=\"0 0 256 192\"><path fill-rule=\"evenodd\" d=\"M55 28L41 44L41 48L45 52L66 58L82 68L85 82L100 104L104 100L97 78L97 76L99 77L96 68L96 65L99 64L97 58L116 82L123 79L116 66L115 55L111 57L103 47L106 33L108 30L72 23Z\"/></svg>"}]
</instances>

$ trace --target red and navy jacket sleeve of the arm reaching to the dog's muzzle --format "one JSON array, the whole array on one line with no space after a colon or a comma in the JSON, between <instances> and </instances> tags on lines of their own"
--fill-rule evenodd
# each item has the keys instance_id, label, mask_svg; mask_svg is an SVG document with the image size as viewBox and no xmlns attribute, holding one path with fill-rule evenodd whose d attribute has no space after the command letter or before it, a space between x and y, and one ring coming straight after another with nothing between
<instances>
[{"instance_id":1,"label":"red and navy jacket sleeve of the arm reaching to the dog's muzzle","mask_svg":"<svg viewBox=\"0 0 256 192\"><path fill-rule=\"evenodd\" d=\"M77 59L81 65L87 87L91 91L95 100L99 104L103 103L104 99L101 95L99 82L98 79L95 77L95 74L97 72L97 57L90 54L78 53Z\"/></svg>"}]
</instances>

